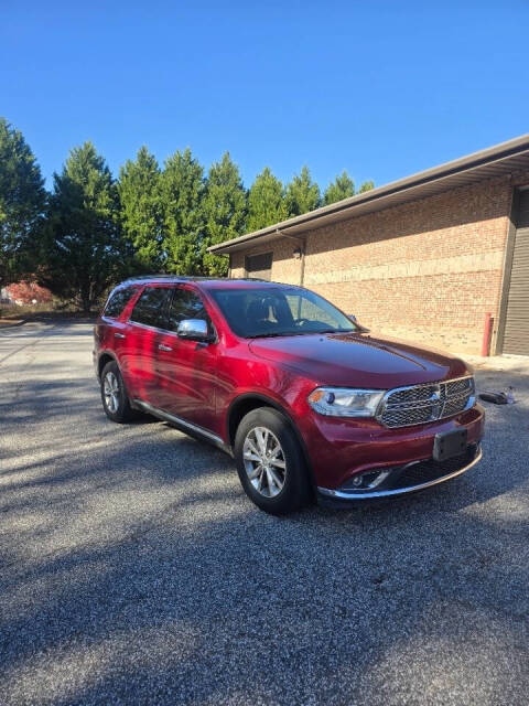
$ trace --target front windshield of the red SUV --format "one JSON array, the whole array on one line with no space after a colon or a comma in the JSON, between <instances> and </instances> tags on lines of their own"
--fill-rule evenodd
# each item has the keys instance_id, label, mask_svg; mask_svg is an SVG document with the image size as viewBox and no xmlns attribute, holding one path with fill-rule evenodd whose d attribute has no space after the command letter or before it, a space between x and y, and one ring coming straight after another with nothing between
<instances>
[{"instance_id":1,"label":"front windshield of the red SUV","mask_svg":"<svg viewBox=\"0 0 529 706\"><path fill-rule=\"evenodd\" d=\"M231 330L246 339L358 330L338 309L307 289L212 289L209 293Z\"/></svg>"}]
</instances>

